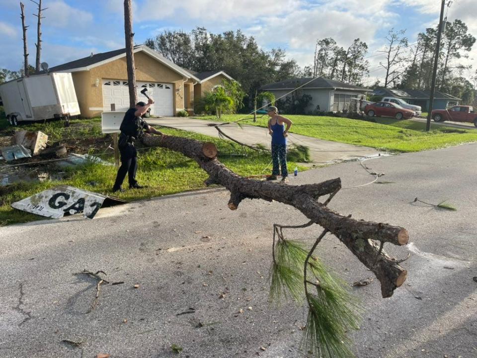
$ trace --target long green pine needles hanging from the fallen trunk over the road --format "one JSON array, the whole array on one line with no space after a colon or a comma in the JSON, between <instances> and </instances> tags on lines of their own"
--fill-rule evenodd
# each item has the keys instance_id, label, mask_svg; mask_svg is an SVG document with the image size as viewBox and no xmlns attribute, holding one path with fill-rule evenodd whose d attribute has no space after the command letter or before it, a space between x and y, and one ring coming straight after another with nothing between
<instances>
[{"instance_id":1,"label":"long green pine needles hanging from the fallen trunk over the road","mask_svg":"<svg viewBox=\"0 0 477 358\"><path fill-rule=\"evenodd\" d=\"M347 283L330 273L315 256L308 262L305 290L304 265L308 254L303 243L277 241L270 298L276 302L291 296L297 303L306 299L309 313L300 349L307 357L353 357L347 333L359 328L357 299L350 294Z\"/></svg>"}]
</instances>

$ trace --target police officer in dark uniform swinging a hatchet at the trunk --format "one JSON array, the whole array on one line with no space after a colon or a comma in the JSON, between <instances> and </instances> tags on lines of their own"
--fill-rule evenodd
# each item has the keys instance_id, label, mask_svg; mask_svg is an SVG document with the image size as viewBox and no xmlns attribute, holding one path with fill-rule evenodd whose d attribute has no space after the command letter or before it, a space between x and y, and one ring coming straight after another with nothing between
<instances>
[{"instance_id":1,"label":"police officer in dark uniform swinging a hatchet at the trunk","mask_svg":"<svg viewBox=\"0 0 477 358\"><path fill-rule=\"evenodd\" d=\"M121 153L121 167L119 167L116 181L114 182L113 192L124 191L121 188L126 173L129 179L130 189L140 189L144 186L138 184L136 180L136 171L138 169L138 152L134 147L134 142L140 140L144 135L144 130L148 133L162 135L157 129L151 127L142 118L154 101L149 98L148 103L138 102L134 108L129 108L124 115L119 129L121 134L118 140L119 153Z\"/></svg>"}]
</instances>

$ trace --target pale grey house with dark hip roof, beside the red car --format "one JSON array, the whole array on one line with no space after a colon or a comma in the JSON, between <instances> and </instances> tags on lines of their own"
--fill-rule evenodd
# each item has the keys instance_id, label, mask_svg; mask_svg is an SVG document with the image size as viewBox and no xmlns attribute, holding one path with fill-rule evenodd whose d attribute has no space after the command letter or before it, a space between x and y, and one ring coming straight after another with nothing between
<instances>
[{"instance_id":1,"label":"pale grey house with dark hip roof, beside the red car","mask_svg":"<svg viewBox=\"0 0 477 358\"><path fill-rule=\"evenodd\" d=\"M262 86L260 90L272 92L276 98L279 98L306 84L300 91L302 94L309 94L312 97L311 104L305 109L307 112L354 110L357 103L356 98L361 98L362 95L366 98L366 93L373 91L339 81L327 80L323 77L312 80L312 77L285 80Z\"/></svg>"}]
</instances>

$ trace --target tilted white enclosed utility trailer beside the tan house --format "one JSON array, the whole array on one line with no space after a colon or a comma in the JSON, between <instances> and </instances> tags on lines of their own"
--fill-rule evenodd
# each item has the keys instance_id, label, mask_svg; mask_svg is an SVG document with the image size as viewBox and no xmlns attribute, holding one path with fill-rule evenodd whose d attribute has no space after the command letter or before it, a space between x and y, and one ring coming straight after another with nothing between
<instances>
[{"instance_id":1,"label":"tilted white enclosed utility trailer beside the tan house","mask_svg":"<svg viewBox=\"0 0 477 358\"><path fill-rule=\"evenodd\" d=\"M6 118L11 125L79 115L71 73L45 73L11 80L0 85Z\"/></svg>"}]
</instances>

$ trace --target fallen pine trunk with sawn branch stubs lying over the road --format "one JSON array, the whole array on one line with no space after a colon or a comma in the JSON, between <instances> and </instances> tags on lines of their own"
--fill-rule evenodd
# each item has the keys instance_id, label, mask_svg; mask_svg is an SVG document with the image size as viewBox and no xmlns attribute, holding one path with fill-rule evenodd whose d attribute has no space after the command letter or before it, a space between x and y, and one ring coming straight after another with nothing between
<instances>
[{"instance_id":1,"label":"fallen pine trunk with sawn branch stubs lying over the road","mask_svg":"<svg viewBox=\"0 0 477 358\"><path fill-rule=\"evenodd\" d=\"M296 186L246 179L229 170L216 157L210 158L205 154L210 153L208 147L212 143L204 144L193 139L167 135L146 135L142 141L147 146L167 148L194 159L209 174L207 185L220 184L231 192L228 203L231 210L236 210L245 198L275 200L297 208L311 221L334 234L361 263L374 272L381 282L383 297L391 297L394 290L405 281L407 271L373 241L405 245L409 239L405 229L355 220L330 210L318 201L320 196L339 190L341 179Z\"/></svg>"}]
</instances>

